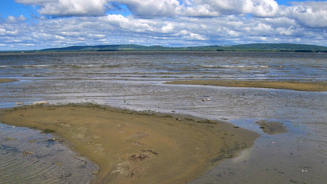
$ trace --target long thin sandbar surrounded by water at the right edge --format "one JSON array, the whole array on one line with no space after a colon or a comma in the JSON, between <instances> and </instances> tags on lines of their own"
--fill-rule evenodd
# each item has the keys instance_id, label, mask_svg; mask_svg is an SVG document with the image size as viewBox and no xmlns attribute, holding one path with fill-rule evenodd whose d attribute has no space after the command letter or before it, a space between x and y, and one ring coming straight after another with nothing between
<instances>
[{"instance_id":1,"label":"long thin sandbar surrounded by water at the right edge","mask_svg":"<svg viewBox=\"0 0 327 184\"><path fill-rule=\"evenodd\" d=\"M273 88L297 91L327 91L327 82L293 82L293 81L241 81L241 80L181 80L165 84L210 85L225 87Z\"/></svg>"}]
</instances>

